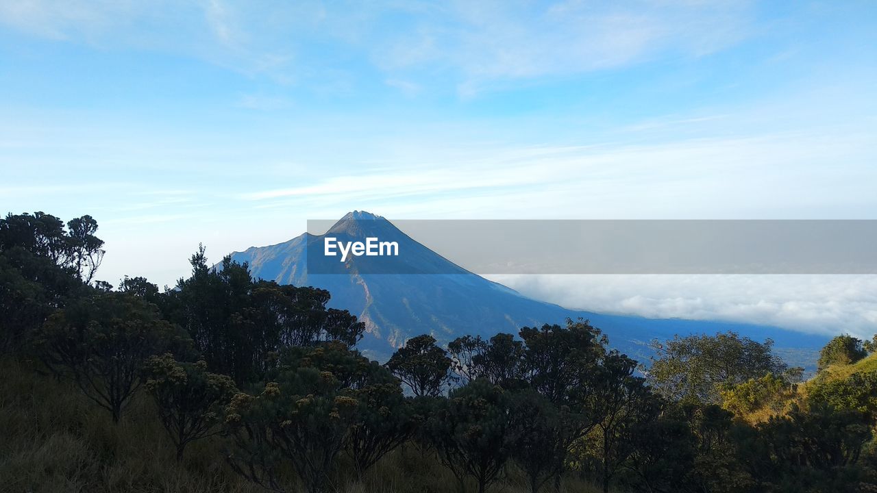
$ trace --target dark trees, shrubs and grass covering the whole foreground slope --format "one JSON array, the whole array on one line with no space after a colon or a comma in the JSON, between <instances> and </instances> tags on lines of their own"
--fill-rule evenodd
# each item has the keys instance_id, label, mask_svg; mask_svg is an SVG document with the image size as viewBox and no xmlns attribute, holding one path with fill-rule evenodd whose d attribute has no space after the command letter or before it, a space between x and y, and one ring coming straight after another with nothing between
<instances>
[{"instance_id":1,"label":"dark trees, shrubs and grass covering the whole foreground slope","mask_svg":"<svg viewBox=\"0 0 877 493\"><path fill-rule=\"evenodd\" d=\"M446 348L424 334L381 365L328 292L254 280L228 258L211 269L203 248L175 289L93 281L95 232L87 217L0 220L4 489L852 493L877 481L877 373L836 368L872 368L861 341L833 340L806 385L770 340L656 341L644 368L586 320Z\"/></svg>"}]
</instances>

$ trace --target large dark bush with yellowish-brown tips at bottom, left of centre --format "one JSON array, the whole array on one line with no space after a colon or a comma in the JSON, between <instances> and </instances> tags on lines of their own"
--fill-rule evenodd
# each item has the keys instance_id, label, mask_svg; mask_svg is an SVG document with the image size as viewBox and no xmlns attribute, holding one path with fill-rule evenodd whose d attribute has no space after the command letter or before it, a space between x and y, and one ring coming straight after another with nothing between
<instances>
[{"instance_id":1,"label":"large dark bush with yellowish-brown tips at bottom, left of centre","mask_svg":"<svg viewBox=\"0 0 877 493\"><path fill-rule=\"evenodd\" d=\"M374 367L337 342L289 347L278 363L258 396L232 398L225 423L235 447L228 460L250 481L278 491L284 490L278 471L288 462L305 489L323 491L358 423L357 390L371 385L363 370Z\"/></svg>"}]
</instances>

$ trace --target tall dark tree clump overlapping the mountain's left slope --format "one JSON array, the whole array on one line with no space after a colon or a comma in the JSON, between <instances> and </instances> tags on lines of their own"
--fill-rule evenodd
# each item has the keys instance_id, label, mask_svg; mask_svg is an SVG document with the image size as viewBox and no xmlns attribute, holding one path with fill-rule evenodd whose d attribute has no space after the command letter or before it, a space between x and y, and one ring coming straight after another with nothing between
<instances>
[{"instance_id":1,"label":"tall dark tree clump overlapping the mountain's left slope","mask_svg":"<svg viewBox=\"0 0 877 493\"><path fill-rule=\"evenodd\" d=\"M353 347L365 330L348 311L326 308L324 289L254 281L246 264L229 257L208 268L203 247L191 264L192 275L177 283L164 311L186 328L211 371L241 387L263 378L282 347L328 340Z\"/></svg>"}]
</instances>

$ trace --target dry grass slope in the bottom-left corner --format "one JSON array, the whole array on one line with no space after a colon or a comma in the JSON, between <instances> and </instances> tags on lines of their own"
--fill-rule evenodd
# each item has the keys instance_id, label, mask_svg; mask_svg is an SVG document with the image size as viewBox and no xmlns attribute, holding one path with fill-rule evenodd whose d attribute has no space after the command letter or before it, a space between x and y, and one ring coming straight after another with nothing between
<instances>
[{"instance_id":1,"label":"dry grass slope in the bottom-left corner","mask_svg":"<svg viewBox=\"0 0 877 493\"><path fill-rule=\"evenodd\" d=\"M66 382L17 361L0 363L0 490L16 493L260 491L234 475L215 443L193 444L177 464L150 399L118 425Z\"/></svg>"}]
</instances>

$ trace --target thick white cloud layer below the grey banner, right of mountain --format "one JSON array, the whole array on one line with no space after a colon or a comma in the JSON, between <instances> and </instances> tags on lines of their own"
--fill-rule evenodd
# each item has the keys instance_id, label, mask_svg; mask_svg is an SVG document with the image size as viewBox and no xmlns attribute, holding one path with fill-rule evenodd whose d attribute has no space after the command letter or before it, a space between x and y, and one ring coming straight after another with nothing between
<instances>
[{"instance_id":1,"label":"thick white cloud layer below the grey banner, right of mountain","mask_svg":"<svg viewBox=\"0 0 877 493\"><path fill-rule=\"evenodd\" d=\"M568 308L648 318L877 332L877 275L490 275Z\"/></svg>"}]
</instances>

